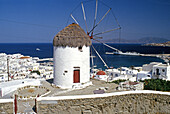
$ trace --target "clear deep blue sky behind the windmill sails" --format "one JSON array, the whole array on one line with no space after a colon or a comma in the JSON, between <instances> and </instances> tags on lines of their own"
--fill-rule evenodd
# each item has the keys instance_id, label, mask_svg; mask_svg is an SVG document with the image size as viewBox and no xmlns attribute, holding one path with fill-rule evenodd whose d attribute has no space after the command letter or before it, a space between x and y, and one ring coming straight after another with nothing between
<instances>
[{"instance_id":1,"label":"clear deep blue sky behind the windmill sails","mask_svg":"<svg viewBox=\"0 0 170 114\"><path fill-rule=\"evenodd\" d=\"M149 36L170 40L170 0L100 1L112 8L122 27L122 38ZM74 22L69 15L80 2L81 0L0 0L0 43L52 43L53 37L60 30ZM92 3L95 1L84 4L87 6L85 10L88 22L93 22L95 5L91 5ZM80 9L76 9L73 16L83 17L81 6L78 8ZM99 7L99 19L107 10L108 7ZM110 19L103 20L105 21L109 25L112 23ZM107 27L99 26L99 30ZM106 37L118 37L113 34Z\"/></svg>"}]
</instances>

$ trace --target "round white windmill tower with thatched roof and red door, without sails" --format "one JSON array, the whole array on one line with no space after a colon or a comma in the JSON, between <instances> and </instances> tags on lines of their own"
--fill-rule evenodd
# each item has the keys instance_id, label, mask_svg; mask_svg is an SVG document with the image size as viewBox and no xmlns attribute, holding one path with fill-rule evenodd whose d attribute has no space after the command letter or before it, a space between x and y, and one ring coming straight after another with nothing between
<instances>
[{"instance_id":1,"label":"round white windmill tower with thatched roof and red door, without sails","mask_svg":"<svg viewBox=\"0 0 170 114\"><path fill-rule=\"evenodd\" d=\"M61 88L90 81L91 39L78 24L70 24L53 40L54 80Z\"/></svg>"}]
</instances>

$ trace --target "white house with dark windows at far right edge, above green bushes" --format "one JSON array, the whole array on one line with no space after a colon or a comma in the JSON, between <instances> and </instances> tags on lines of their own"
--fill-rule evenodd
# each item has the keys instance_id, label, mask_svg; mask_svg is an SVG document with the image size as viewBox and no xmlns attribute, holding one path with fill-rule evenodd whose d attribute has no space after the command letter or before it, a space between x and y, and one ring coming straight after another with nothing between
<instances>
[{"instance_id":1,"label":"white house with dark windows at far right edge, above green bushes","mask_svg":"<svg viewBox=\"0 0 170 114\"><path fill-rule=\"evenodd\" d=\"M152 69L152 78L170 80L170 65L169 64L154 65Z\"/></svg>"}]
</instances>

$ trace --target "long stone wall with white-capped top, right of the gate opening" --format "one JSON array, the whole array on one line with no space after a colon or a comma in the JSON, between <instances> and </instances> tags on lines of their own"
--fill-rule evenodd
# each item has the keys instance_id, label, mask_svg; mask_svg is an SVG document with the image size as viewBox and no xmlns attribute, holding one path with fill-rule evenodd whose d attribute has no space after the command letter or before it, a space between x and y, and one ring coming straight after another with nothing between
<instances>
[{"instance_id":1,"label":"long stone wall with white-capped top, right of the gate opening","mask_svg":"<svg viewBox=\"0 0 170 114\"><path fill-rule=\"evenodd\" d=\"M83 97L39 98L37 110L38 114L170 113L170 94L160 93L128 91Z\"/></svg>"}]
</instances>

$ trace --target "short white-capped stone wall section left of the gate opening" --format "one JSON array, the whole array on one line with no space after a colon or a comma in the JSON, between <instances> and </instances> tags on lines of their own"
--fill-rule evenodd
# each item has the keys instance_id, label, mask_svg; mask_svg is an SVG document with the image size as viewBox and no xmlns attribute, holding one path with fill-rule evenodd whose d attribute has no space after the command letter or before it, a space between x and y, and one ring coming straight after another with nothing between
<instances>
[{"instance_id":1,"label":"short white-capped stone wall section left of the gate opening","mask_svg":"<svg viewBox=\"0 0 170 114\"><path fill-rule=\"evenodd\" d=\"M13 114L13 99L0 99L0 113Z\"/></svg>"}]
</instances>

